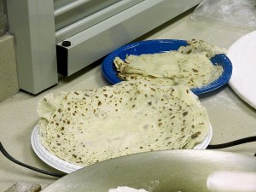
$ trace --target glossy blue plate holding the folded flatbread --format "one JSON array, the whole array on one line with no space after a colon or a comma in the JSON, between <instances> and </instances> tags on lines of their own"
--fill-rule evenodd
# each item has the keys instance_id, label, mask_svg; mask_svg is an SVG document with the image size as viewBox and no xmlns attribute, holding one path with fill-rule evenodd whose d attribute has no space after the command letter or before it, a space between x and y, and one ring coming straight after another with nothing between
<instances>
[{"instance_id":1,"label":"glossy blue plate holding the folded flatbread","mask_svg":"<svg viewBox=\"0 0 256 192\"><path fill-rule=\"evenodd\" d=\"M116 56L119 56L120 59L125 60L126 55L161 53L170 50L177 50L180 46L186 45L187 41L177 39L148 40L133 44L127 44L120 47L119 49L115 49L103 60L102 73L110 83L117 84L121 82L122 79L119 79L119 77L117 76L117 71L113 64L113 59ZM222 66L224 72L218 79L213 81L211 84L191 89L197 96L212 90L217 90L218 88L224 86L224 84L227 84L230 80L232 74L232 64L229 58L224 54L220 54L212 57L211 61L213 65L215 65L215 63L218 63L218 65Z\"/></svg>"}]
</instances>

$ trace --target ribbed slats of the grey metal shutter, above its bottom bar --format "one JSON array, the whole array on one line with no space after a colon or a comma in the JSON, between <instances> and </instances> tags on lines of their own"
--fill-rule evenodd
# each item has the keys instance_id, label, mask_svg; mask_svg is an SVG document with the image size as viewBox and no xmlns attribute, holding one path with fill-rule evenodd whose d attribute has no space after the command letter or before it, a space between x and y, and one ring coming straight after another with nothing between
<instances>
[{"instance_id":1,"label":"ribbed slats of the grey metal shutter, above its bottom bar","mask_svg":"<svg viewBox=\"0 0 256 192\"><path fill-rule=\"evenodd\" d=\"M59 43L143 0L55 0L55 36Z\"/></svg>"}]
</instances>

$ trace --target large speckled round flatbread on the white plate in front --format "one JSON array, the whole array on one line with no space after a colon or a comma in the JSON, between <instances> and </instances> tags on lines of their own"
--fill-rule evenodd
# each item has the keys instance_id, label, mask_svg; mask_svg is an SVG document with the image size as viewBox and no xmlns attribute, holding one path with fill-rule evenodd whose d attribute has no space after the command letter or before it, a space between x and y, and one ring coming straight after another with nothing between
<instances>
[{"instance_id":1,"label":"large speckled round flatbread on the white plate in front","mask_svg":"<svg viewBox=\"0 0 256 192\"><path fill-rule=\"evenodd\" d=\"M209 131L207 111L185 85L123 81L49 94L38 103L41 143L86 166L126 154L193 148Z\"/></svg>"}]
</instances>

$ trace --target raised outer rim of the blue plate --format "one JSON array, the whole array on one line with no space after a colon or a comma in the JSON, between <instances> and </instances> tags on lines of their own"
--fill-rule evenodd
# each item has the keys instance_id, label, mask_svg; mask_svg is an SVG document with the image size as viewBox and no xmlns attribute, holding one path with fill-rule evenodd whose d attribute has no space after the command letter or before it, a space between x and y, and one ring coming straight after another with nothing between
<instances>
[{"instance_id":1,"label":"raised outer rim of the blue plate","mask_svg":"<svg viewBox=\"0 0 256 192\"><path fill-rule=\"evenodd\" d=\"M182 39L150 39L150 40L134 42L131 44L125 44L125 45L119 47L118 49L114 49L113 52L108 54L103 59L102 74L103 74L104 78L107 79L108 82L110 82L111 84L117 84L117 83L123 81L122 79L119 79L119 77L117 77L117 74L116 74L117 71L113 65L113 58L115 58L121 51L124 51L126 49L131 49L131 48L134 48L134 47L137 47L140 45L144 45L144 44L149 44L149 45L150 44L151 45L152 44L180 44L180 46L183 46L183 45L187 44L187 41L182 40ZM175 49L170 49L170 50L175 50ZM160 53L160 52L154 52L154 53ZM232 63L227 55L218 54L211 58L213 65L215 65L215 63L213 63L213 61L218 58L225 61L224 65L223 65L224 72L220 75L220 77L218 79L216 79L212 83L198 87L198 88L190 89L195 95L199 96L199 95L208 93L210 91L217 90L218 88L224 86L225 84L228 84L228 82L231 78L231 75L232 75ZM109 63L111 63L112 65L110 65Z\"/></svg>"}]
</instances>

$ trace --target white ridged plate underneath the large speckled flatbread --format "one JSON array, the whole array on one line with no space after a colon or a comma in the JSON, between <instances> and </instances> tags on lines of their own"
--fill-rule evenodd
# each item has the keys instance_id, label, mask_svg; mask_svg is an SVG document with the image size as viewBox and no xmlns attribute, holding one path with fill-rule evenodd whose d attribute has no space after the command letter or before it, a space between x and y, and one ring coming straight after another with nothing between
<instances>
[{"instance_id":1,"label":"white ridged plate underneath the large speckled flatbread","mask_svg":"<svg viewBox=\"0 0 256 192\"><path fill-rule=\"evenodd\" d=\"M211 142L211 139L212 139L212 125L210 126L209 133L206 139L202 143L195 145L194 149L206 149L208 144ZM54 154L49 153L49 151L46 148L44 148L44 146L40 142L40 136L38 133L37 126L35 126L32 131L31 143L32 143L32 148L34 152L38 155L38 157L41 160L43 160L46 164L54 167L55 169L61 172L70 173L83 168L83 166L73 165L71 163L68 163L65 160L61 160L60 158L56 157Z\"/></svg>"}]
</instances>

